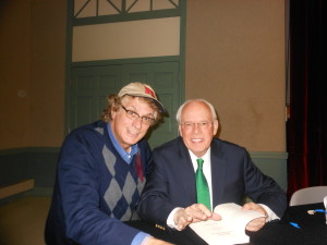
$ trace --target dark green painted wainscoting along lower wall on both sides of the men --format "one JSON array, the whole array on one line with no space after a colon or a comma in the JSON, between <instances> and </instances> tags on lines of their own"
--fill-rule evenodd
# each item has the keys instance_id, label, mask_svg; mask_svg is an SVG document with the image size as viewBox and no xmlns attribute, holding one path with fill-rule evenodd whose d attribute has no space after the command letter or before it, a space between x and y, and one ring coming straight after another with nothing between
<instances>
[{"instance_id":1,"label":"dark green painted wainscoting along lower wall on both sides of the men","mask_svg":"<svg viewBox=\"0 0 327 245\"><path fill-rule=\"evenodd\" d=\"M0 150L0 186L35 180L34 194L51 194L59 147L27 147ZM250 152L253 162L287 191L287 152Z\"/></svg>"}]
</instances>

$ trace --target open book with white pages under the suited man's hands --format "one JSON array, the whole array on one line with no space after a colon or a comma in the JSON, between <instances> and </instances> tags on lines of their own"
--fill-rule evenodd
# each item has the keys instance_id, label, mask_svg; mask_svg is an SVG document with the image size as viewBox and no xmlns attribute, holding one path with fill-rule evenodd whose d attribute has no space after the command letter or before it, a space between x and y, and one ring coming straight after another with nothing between
<instances>
[{"instance_id":1,"label":"open book with white pages under the suited man's hands","mask_svg":"<svg viewBox=\"0 0 327 245\"><path fill-rule=\"evenodd\" d=\"M232 245L249 243L245 234L246 224L264 215L256 211L244 211L237 204L218 205L214 212L219 213L220 221L207 220L191 223L190 228L209 245Z\"/></svg>"}]
</instances>

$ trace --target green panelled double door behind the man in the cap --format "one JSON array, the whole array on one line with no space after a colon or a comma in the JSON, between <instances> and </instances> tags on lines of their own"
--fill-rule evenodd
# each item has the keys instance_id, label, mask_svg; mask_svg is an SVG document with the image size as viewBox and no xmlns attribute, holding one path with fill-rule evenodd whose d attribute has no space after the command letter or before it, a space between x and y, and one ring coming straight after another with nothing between
<instances>
[{"instance_id":1,"label":"green panelled double door behind the man in the cap","mask_svg":"<svg viewBox=\"0 0 327 245\"><path fill-rule=\"evenodd\" d=\"M69 95L69 130L98 120L109 94L118 93L130 82L142 82L156 90L168 111L164 123L147 135L150 147L159 146L178 135L174 114L181 102L179 81L179 62L74 68Z\"/></svg>"}]
</instances>

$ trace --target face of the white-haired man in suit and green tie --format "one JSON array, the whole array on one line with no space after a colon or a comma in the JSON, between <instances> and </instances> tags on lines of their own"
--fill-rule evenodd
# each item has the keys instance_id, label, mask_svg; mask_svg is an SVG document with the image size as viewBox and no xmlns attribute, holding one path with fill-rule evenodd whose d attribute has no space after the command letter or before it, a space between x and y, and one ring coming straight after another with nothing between
<instances>
[{"instance_id":1,"label":"face of the white-haired man in suit and green tie","mask_svg":"<svg viewBox=\"0 0 327 245\"><path fill-rule=\"evenodd\" d=\"M181 114L180 135L186 147L197 157L206 154L218 130L209 107L202 101L187 103Z\"/></svg>"}]
</instances>

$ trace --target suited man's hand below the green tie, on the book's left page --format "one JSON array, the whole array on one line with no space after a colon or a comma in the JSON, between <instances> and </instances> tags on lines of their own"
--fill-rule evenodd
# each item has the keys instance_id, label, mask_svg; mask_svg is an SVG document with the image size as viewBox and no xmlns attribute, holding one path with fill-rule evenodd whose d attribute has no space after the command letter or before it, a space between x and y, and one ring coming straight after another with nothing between
<instances>
[{"instance_id":1,"label":"suited man's hand below the green tie, on the book's left page","mask_svg":"<svg viewBox=\"0 0 327 245\"><path fill-rule=\"evenodd\" d=\"M221 217L215 212L211 212L203 204L194 204L187 208L179 209L173 217L174 224L178 230L184 230L190 223L213 219L220 220Z\"/></svg>"}]
</instances>

